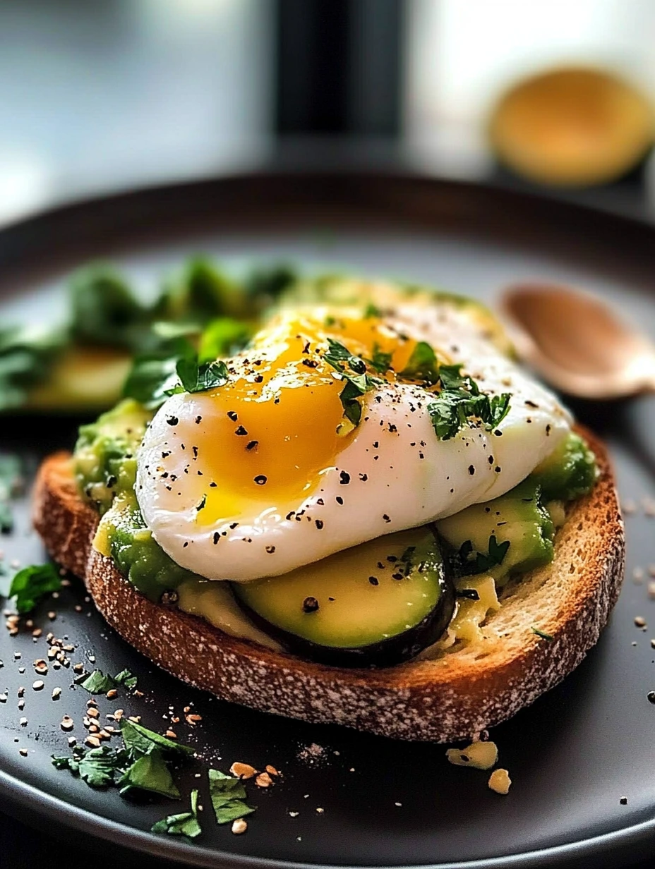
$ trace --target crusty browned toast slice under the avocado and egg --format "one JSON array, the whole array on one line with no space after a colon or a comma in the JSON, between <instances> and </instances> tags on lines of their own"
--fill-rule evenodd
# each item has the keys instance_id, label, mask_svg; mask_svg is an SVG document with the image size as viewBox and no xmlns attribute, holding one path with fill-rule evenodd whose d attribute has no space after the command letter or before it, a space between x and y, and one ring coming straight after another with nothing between
<instances>
[{"instance_id":1,"label":"crusty browned toast slice under the avocado and egg","mask_svg":"<svg viewBox=\"0 0 655 869\"><path fill-rule=\"evenodd\" d=\"M505 588L502 606L485 622L484 640L387 669L302 660L145 598L91 546L98 517L77 494L70 454L43 462L34 524L52 557L84 579L118 634L190 685L264 712L397 739L468 739L571 673L598 640L618 598L625 540L612 469L603 444L578 430L596 453L602 476L591 494L571 504L554 561Z\"/></svg>"}]
</instances>

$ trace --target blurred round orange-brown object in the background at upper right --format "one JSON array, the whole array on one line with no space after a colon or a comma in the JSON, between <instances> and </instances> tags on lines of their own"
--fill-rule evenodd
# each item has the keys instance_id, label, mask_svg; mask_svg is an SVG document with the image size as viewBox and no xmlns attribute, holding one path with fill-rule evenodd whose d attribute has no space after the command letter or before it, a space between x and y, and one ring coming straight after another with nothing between
<instances>
[{"instance_id":1,"label":"blurred round orange-brown object in the background at upper right","mask_svg":"<svg viewBox=\"0 0 655 869\"><path fill-rule=\"evenodd\" d=\"M606 70L560 67L514 84L489 123L498 160L531 181L612 182L652 148L655 112L632 83Z\"/></svg>"}]
</instances>

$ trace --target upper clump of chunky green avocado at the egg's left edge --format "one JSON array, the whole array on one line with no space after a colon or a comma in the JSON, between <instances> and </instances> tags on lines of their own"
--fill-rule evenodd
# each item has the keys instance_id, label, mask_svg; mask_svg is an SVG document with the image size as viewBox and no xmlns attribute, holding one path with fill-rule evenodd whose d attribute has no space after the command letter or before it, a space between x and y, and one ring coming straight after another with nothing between
<instances>
[{"instance_id":1,"label":"upper clump of chunky green avocado at the egg's left edge","mask_svg":"<svg viewBox=\"0 0 655 869\"><path fill-rule=\"evenodd\" d=\"M137 448L152 411L125 399L79 430L73 456L77 486L101 514L117 494L133 496Z\"/></svg>"}]
</instances>

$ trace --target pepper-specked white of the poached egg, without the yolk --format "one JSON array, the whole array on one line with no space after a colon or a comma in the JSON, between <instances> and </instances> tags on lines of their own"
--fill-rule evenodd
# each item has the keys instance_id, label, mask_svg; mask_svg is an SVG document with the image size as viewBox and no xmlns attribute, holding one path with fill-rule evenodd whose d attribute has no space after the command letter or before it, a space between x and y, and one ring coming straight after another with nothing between
<instances>
[{"instance_id":1,"label":"pepper-specked white of the poached egg, without the yolk","mask_svg":"<svg viewBox=\"0 0 655 869\"><path fill-rule=\"evenodd\" d=\"M504 494L570 431L571 417L556 397L501 355L464 311L407 304L394 317L412 337L462 362L485 392L511 393L498 428L465 428L438 440L426 409L430 396L409 383L384 383L364 395L351 441L310 494L265 506L252 500L238 516L203 525L197 521L206 491L203 455L191 457L189 445L211 434L218 411L210 395L173 395L145 434L136 492L144 521L177 564L211 580L284 574Z\"/></svg>"}]
</instances>

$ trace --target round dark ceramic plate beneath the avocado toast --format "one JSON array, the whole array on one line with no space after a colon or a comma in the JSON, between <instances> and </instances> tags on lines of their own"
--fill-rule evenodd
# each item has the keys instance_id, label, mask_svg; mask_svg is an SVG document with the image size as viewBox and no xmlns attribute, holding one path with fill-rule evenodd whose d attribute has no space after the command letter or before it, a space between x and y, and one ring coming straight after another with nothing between
<instances>
[{"instance_id":1,"label":"round dark ceramic plate beneath the avocado toast","mask_svg":"<svg viewBox=\"0 0 655 869\"><path fill-rule=\"evenodd\" d=\"M0 315L4 322L57 315L64 275L92 257L115 260L148 285L197 251L230 261L343 266L485 299L526 278L571 282L611 299L655 337L655 230L493 189L360 175L231 178L118 196L23 222L0 233ZM575 409L609 442L622 496L638 503L655 496L652 400ZM70 447L74 430L65 420L4 419L0 448L36 463L52 449ZM632 581L635 567L655 561L654 522L642 509L628 517L628 579L598 647L564 684L493 732L513 779L507 797L491 793L485 773L450 766L443 746L308 726L191 690L120 640L74 584L38 611L35 624L44 634L65 636L75 647L73 662L91 668L94 655L104 671L137 673L144 697L121 705L147 726L163 728L169 706L179 712L193 705L202 721L177 733L197 747L202 763L181 773L183 793L200 782L209 810L204 779L194 774L208 764L226 769L233 760L260 768L271 763L284 779L252 794L258 809L244 836L214 825L209 811L194 845L148 833L156 819L182 809L135 806L55 771L50 754L66 751L59 722L63 713L81 720L88 694L70 687L70 670L52 667L44 690L34 691L32 661L44 656L45 640L3 630L4 807L197 866L256 866L263 859L267 866L472 869L560 865L592 855L596 866L617 866L647 850L655 831L655 706L646 699L655 688L655 602L645 584ZM3 549L6 561L43 558L26 504ZM50 607L57 610L54 621ZM652 634L635 627L637 615L652 620ZM26 687L22 712L20 686ZM53 701L56 686L63 693ZM100 700L101 712L111 707ZM308 751L312 745L320 748ZM624 796L626 805L619 802Z\"/></svg>"}]
</instances>

